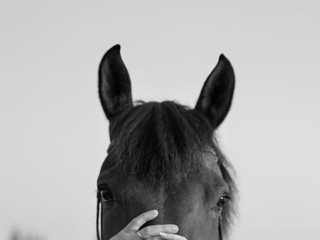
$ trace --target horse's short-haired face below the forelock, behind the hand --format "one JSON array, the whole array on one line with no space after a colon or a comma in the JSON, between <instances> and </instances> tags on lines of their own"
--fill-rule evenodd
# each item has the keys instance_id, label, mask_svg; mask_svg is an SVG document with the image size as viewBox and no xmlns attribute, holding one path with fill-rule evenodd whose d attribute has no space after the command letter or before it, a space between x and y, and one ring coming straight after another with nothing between
<instances>
[{"instance_id":1,"label":"horse's short-haired face below the forelock, behind the hand","mask_svg":"<svg viewBox=\"0 0 320 240\"><path fill-rule=\"evenodd\" d=\"M150 209L159 215L144 224L176 224L178 234L187 239L219 239L219 217L224 198L230 195L227 182L210 152L203 153L205 164L199 172L181 180L176 186L153 187L140 182L128 182L119 178L114 167L99 179L107 193L102 199L102 235L110 239L135 216ZM113 198L109 200L109 198Z\"/></svg>"}]
</instances>

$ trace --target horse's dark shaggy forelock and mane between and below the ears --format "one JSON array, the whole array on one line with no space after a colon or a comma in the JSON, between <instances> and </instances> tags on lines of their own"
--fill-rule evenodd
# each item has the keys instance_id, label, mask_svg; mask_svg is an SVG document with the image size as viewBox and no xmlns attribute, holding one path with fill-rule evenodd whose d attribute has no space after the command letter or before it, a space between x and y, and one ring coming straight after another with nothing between
<instances>
[{"instance_id":1,"label":"horse's dark shaggy forelock and mane between and below the ears","mask_svg":"<svg viewBox=\"0 0 320 240\"><path fill-rule=\"evenodd\" d=\"M200 152L216 152L231 200L222 211L222 231L232 219L235 184L233 170L220 151L214 129L200 112L173 101L135 102L110 121L109 162L129 179L172 186L201 165Z\"/></svg>"}]
</instances>

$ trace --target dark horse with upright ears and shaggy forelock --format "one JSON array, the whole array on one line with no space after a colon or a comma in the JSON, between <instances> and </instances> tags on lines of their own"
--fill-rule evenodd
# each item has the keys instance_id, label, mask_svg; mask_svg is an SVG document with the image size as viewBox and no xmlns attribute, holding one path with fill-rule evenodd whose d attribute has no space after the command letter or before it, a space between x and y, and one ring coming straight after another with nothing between
<instances>
[{"instance_id":1,"label":"dark horse with upright ears and shaggy forelock","mask_svg":"<svg viewBox=\"0 0 320 240\"><path fill-rule=\"evenodd\" d=\"M97 178L98 238L99 227L101 239L110 239L151 209L158 216L141 228L176 224L188 240L228 235L236 184L215 130L229 111L233 90L233 68L221 54L194 108L176 101L132 101L120 45L106 51L98 94L109 120L110 145Z\"/></svg>"}]
</instances>

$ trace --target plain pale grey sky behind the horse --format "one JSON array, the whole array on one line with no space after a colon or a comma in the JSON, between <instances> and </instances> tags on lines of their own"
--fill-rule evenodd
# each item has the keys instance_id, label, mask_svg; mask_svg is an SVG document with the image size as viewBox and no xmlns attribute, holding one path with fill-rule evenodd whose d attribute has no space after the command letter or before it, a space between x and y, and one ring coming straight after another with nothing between
<instances>
[{"instance_id":1,"label":"plain pale grey sky behind the horse","mask_svg":"<svg viewBox=\"0 0 320 240\"><path fill-rule=\"evenodd\" d=\"M220 53L236 88L218 128L237 172L231 239L319 239L319 3L0 1L0 239L94 239L108 122L104 52L134 100L194 106Z\"/></svg>"}]
</instances>

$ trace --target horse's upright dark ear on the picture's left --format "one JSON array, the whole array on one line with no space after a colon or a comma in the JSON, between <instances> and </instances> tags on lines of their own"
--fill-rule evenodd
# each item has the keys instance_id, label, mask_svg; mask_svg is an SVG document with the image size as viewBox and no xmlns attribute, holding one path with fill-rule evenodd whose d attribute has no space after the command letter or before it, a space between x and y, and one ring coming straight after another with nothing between
<instances>
[{"instance_id":1,"label":"horse's upright dark ear on the picture's left","mask_svg":"<svg viewBox=\"0 0 320 240\"><path fill-rule=\"evenodd\" d=\"M106 117L111 120L132 105L129 73L121 59L120 45L112 46L99 65L99 98Z\"/></svg>"}]
</instances>

